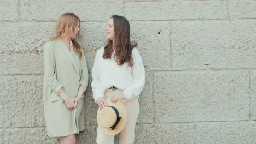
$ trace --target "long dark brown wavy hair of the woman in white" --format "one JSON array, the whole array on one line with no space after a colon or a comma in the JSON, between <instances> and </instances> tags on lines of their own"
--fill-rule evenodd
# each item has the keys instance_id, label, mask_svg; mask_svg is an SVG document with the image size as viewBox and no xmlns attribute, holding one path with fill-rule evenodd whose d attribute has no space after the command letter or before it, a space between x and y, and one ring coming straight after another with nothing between
<instances>
[{"instance_id":1,"label":"long dark brown wavy hair of the woman in white","mask_svg":"<svg viewBox=\"0 0 256 144\"><path fill-rule=\"evenodd\" d=\"M132 67L132 49L138 44L135 41L131 42L130 23L124 16L112 15L111 19L114 21L115 44L113 44L113 40L107 41L103 58L111 59L115 49L114 58L117 59L118 65L123 65L127 62L129 67Z\"/></svg>"}]
</instances>

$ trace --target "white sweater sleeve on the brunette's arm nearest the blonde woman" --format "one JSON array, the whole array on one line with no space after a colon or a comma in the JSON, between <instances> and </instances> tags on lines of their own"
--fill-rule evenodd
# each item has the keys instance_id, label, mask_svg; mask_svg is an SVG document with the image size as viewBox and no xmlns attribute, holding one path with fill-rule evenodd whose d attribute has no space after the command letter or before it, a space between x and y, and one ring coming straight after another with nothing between
<instances>
[{"instance_id":1,"label":"white sweater sleeve on the brunette's arm nearest the blonde woman","mask_svg":"<svg viewBox=\"0 0 256 144\"><path fill-rule=\"evenodd\" d=\"M91 87L92 87L92 96L95 99L95 103L97 103L97 99L100 97L105 97L104 93L102 91L101 87L101 80L100 80L100 58L101 58L101 52L100 50L97 51L97 54L95 56L94 60L94 65L92 67L92 82L91 82Z\"/></svg>"}]
</instances>

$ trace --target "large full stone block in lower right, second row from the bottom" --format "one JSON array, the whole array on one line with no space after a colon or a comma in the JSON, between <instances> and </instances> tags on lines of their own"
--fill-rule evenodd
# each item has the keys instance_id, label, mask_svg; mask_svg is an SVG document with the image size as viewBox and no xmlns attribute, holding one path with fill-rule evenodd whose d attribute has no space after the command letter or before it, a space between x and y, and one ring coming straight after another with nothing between
<instances>
[{"instance_id":1,"label":"large full stone block in lower right, second row from the bottom","mask_svg":"<svg viewBox=\"0 0 256 144\"><path fill-rule=\"evenodd\" d=\"M154 73L155 121L249 119L249 71Z\"/></svg>"}]
</instances>

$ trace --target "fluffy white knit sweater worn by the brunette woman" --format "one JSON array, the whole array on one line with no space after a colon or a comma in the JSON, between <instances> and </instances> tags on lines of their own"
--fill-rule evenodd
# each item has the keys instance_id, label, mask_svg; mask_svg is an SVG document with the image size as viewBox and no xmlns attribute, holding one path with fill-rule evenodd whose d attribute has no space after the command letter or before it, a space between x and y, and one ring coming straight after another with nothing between
<instances>
[{"instance_id":1,"label":"fluffy white knit sweater worn by the brunette woman","mask_svg":"<svg viewBox=\"0 0 256 144\"><path fill-rule=\"evenodd\" d=\"M113 58L103 59L104 47L97 51L94 66L92 67L92 92L95 102L105 97L106 89L115 86L123 90L126 100L138 98L145 85L145 70L141 55L136 48L132 49L133 66L128 63L117 65Z\"/></svg>"}]
</instances>

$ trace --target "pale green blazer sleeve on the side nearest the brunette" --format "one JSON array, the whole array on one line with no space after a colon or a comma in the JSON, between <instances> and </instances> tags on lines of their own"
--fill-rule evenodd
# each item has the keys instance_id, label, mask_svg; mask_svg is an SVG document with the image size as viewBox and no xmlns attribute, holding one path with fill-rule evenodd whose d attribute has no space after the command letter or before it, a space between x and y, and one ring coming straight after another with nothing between
<instances>
[{"instance_id":1,"label":"pale green blazer sleeve on the side nearest the brunette","mask_svg":"<svg viewBox=\"0 0 256 144\"><path fill-rule=\"evenodd\" d=\"M87 69L86 59L85 59L83 50L82 50L82 59L80 61L81 61L81 76L80 76L79 85L83 87L85 92L88 86L88 69Z\"/></svg>"}]
</instances>

